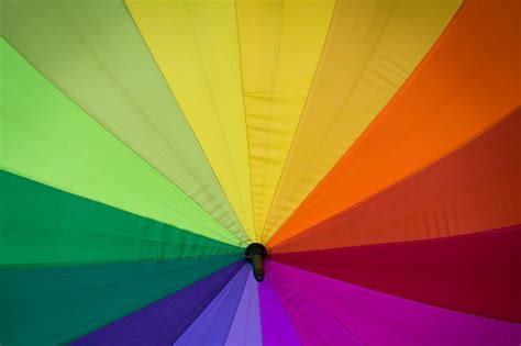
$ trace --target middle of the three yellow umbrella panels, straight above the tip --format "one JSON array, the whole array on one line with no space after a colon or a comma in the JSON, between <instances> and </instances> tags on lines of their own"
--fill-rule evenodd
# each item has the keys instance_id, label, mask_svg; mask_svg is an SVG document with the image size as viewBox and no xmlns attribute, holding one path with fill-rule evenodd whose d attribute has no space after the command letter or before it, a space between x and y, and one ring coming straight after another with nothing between
<instances>
[{"instance_id":1,"label":"middle of the three yellow umbrella panels, straight above the tip","mask_svg":"<svg viewBox=\"0 0 521 346\"><path fill-rule=\"evenodd\" d=\"M313 80L334 2L236 3L257 237Z\"/></svg>"}]
</instances>

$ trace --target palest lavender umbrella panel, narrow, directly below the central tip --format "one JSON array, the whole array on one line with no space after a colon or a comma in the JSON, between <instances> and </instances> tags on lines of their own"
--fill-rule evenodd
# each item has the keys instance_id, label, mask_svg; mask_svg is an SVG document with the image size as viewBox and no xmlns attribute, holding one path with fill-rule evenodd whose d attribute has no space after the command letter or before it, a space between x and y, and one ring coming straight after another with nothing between
<instances>
[{"instance_id":1,"label":"palest lavender umbrella panel, narrow, directly below the central tip","mask_svg":"<svg viewBox=\"0 0 521 346\"><path fill-rule=\"evenodd\" d=\"M237 312L228 334L228 346L262 346L260 312L258 306L258 283L250 271Z\"/></svg>"}]
</instances>

